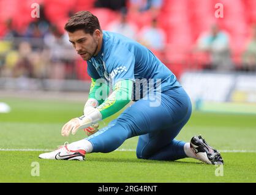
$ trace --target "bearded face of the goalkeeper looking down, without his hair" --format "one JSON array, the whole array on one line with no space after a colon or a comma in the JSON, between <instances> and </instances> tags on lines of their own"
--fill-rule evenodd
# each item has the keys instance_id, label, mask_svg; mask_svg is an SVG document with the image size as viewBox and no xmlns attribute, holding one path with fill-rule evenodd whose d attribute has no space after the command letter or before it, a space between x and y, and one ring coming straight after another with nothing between
<instances>
[{"instance_id":1,"label":"bearded face of the goalkeeper looking down, without his hair","mask_svg":"<svg viewBox=\"0 0 256 195\"><path fill-rule=\"evenodd\" d=\"M73 44L75 51L81 55L83 60L89 60L96 54L100 38L99 30L95 30L92 35L86 34L83 30L67 33L70 43Z\"/></svg>"}]
</instances>

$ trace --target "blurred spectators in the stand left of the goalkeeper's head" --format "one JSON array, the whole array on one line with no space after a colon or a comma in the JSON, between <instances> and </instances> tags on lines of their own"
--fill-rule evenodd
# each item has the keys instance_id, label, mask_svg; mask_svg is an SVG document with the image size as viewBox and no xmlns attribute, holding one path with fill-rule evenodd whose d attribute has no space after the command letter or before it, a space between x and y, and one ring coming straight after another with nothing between
<instances>
[{"instance_id":1,"label":"blurred spectators in the stand left of the goalkeeper's head","mask_svg":"<svg viewBox=\"0 0 256 195\"><path fill-rule=\"evenodd\" d=\"M40 5L40 18L29 23L24 34L6 22L7 33L0 41L0 74L2 77L39 79L76 79L72 70L75 52L67 34L50 23Z\"/></svg>"}]
</instances>

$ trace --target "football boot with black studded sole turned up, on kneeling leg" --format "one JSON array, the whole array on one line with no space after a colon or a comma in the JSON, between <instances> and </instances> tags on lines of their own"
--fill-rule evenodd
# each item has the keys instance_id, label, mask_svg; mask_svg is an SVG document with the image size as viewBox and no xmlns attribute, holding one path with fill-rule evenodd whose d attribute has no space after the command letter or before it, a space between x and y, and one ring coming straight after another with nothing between
<instances>
[{"instance_id":1,"label":"football boot with black studded sole turned up, on kneeling leg","mask_svg":"<svg viewBox=\"0 0 256 195\"><path fill-rule=\"evenodd\" d=\"M190 141L190 148L192 149L195 157L198 160L204 161L205 163L210 165L224 164L220 153L213 147L209 146L209 144L206 143L201 135L192 137Z\"/></svg>"}]
</instances>

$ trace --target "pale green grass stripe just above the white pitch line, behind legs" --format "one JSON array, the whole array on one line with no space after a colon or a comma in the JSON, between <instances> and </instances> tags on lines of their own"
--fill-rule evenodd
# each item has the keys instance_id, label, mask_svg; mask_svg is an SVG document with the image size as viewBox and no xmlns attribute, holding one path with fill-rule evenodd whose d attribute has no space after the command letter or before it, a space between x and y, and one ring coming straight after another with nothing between
<instances>
[{"instance_id":1,"label":"pale green grass stripe just above the white pitch line, behind legs","mask_svg":"<svg viewBox=\"0 0 256 195\"><path fill-rule=\"evenodd\" d=\"M100 126L104 126L101 124ZM62 123L0 122L0 148L56 149L65 141L72 143L86 137L80 130L76 135L61 136ZM189 142L194 135L201 134L213 147L222 151L255 151L256 131L244 127L185 126L177 140ZM135 149L138 137L126 140L119 149Z\"/></svg>"}]
</instances>

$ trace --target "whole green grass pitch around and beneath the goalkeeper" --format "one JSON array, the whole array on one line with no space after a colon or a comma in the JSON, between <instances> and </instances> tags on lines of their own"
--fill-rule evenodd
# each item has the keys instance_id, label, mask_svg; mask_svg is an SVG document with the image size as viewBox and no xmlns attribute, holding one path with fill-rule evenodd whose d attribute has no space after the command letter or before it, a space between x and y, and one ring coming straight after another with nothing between
<instances>
[{"instance_id":1,"label":"whole green grass pitch around and beneath the goalkeeper","mask_svg":"<svg viewBox=\"0 0 256 195\"><path fill-rule=\"evenodd\" d=\"M68 138L60 134L65 122L81 115L83 102L18 98L0 102L12 108L0 114L0 182L256 182L256 115L192 113L177 139L190 141L201 134L220 150L225 165L221 176L216 176L220 167L192 158L139 160L135 154L138 137L126 140L117 151L88 154L86 161L39 159L43 150L85 137L82 130ZM39 176L31 175L33 162L40 166Z\"/></svg>"}]
</instances>

